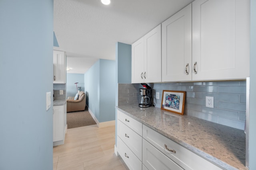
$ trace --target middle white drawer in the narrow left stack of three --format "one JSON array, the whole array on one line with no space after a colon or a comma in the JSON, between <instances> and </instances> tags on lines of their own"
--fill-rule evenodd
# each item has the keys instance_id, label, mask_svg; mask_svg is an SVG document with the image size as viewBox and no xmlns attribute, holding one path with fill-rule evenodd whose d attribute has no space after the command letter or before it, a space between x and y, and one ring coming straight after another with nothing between
<instances>
[{"instance_id":1,"label":"middle white drawer in the narrow left stack of three","mask_svg":"<svg viewBox=\"0 0 256 170\"><path fill-rule=\"evenodd\" d=\"M132 152L142 161L142 137L132 129L117 121L117 135L132 150Z\"/></svg>"}]
</instances>

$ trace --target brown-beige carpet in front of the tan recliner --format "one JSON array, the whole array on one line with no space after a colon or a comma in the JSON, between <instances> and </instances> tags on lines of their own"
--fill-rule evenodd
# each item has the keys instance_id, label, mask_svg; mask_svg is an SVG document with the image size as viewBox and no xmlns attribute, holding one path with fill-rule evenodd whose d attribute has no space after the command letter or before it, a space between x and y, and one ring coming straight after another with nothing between
<instances>
[{"instance_id":1,"label":"brown-beige carpet in front of the tan recliner","mask_svg":"<svg viewBox=\"0 0 256 170\"><path fill-rule=\"evenodd\" d=\"M85 111L74 111L67 113L68 129L75 127L82 127L88 125L95 125L96 122L90 115L88 109Z\"/></svg>"}]
</instances>

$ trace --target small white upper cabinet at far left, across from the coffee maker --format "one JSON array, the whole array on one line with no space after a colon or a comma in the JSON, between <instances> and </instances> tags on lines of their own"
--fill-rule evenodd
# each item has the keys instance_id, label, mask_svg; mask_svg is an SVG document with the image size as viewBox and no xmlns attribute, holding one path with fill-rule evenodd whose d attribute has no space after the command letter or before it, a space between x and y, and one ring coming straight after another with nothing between
<instances>
[{"instance_id":1,"label":"small white upper cabinet at far left, across from the coffee maker","mask_svg":"<svg viewBox=\"0 0 256 170\"><path fill-rule=\"evenodd\" d=\"M66 83L66 56L64 51L53 51L53 83Z\"/></svg>"}]
</instances>

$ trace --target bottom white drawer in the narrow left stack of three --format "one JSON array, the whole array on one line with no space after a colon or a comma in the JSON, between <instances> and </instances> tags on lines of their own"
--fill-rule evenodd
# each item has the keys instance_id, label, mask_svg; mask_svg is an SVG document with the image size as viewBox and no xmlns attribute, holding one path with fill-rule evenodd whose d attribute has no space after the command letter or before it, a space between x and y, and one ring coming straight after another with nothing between
<instances>
[{"instance_id":1,"label":"bottom white drawer in the narrow left stack of three","mask_svg":"<svg viewBox=\"0 0 256 170\"><path fill-rule=\"evenodd\" d=\"M130 170L142 170L142 162L135 156L135 154L124 144L118 137L118 153L124 160L125 164Z\"/></svg>"}]
</instances>

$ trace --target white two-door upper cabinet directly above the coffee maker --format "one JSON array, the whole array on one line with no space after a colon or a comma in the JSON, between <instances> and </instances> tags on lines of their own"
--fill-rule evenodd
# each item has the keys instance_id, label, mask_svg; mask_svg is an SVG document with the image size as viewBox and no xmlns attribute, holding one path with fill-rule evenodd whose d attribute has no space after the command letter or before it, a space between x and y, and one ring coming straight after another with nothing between
<instances>
[{"instance_id":1,"label":"white two-door upper cabinet directly above the coffee maker","mask_svg":"<svg viewBox=\"0 0 256 170\"><path fill-rule=\"evenodd\" d=\"M161 25L132 44L132 83L161 82Z\"/></svg>"}]
</instances>

